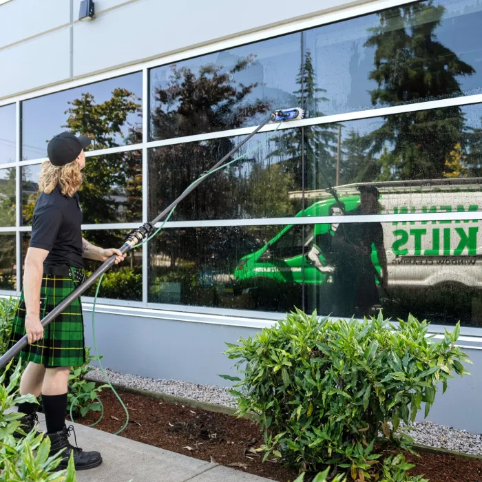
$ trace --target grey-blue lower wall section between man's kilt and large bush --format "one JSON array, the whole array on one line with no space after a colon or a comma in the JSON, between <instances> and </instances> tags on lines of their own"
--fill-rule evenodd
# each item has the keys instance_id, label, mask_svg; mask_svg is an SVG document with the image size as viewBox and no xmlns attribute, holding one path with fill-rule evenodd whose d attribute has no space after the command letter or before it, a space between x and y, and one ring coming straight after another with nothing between
<instances>
[{"instance_id":1,"label":"grey-blue lower wall section between man's kilt and large bush","mask_svg":"<svg viewBox=\"0 0 482 482\"><path fill-rule=\"evenodd\" d=\"M85 342L93 346L92 313L85 311L84 317ZM255 328L96 315L97 348L105 367L196 384L225 385L218 375L232 373L233 363L222 355L224 342L255 333Z\"/></svg>"}]
</instances>

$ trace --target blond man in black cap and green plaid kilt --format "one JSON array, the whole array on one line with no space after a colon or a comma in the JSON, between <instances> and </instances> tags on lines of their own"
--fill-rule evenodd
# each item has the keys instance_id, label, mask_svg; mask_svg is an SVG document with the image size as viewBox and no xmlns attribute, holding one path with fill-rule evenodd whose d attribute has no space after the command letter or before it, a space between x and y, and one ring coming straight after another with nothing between
<instances>
[{"instance_id":1,"label":"blond man in black cap and green plaid kilt","mask_svg":"<svg viewBox=\"0 0 482 482\"><path fill-rule=\"evenodd\" d=\"M65 426L67 382L71 366L85 363L81 301L78 298L45 330L40 320L57 306L83 280L83 260L105 261L118 249L101 249L82 238L82 210L78 189L85 167L85 147L89 138L64 132L48 144L48 158L39 177L40 196L34 207L32 237L25 257L23 291L14 318L10 346L25 334L28 346L21 357L29 364L20 382L21 395L42 395L43 411L50 437L50 454L66 449L60 467L65 468L74 452L76 470L102 463L98 452L83 452L68 441L73 427ZM36 422L36 404L19 404L25 414L21 423L30 432ZM21 434L17 432L17 437Z\"/></svg>"}]
</instances>

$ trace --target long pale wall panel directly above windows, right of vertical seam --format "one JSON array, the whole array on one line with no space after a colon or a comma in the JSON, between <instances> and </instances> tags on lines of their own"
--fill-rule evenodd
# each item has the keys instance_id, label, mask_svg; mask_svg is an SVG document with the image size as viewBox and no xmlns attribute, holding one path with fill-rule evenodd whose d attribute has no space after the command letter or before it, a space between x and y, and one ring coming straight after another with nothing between
<instances>
[{"instance_id":1,"label":"long pale wall panel directly above windows, right of vertical seam","mask_svg":"<svg viewBox=\"0 0 482 482\"><path fill-rule=\"evenodd\" d=\"M110 1L107 3L111 3ZM353 1L144 0L74 25L74 76L160 56ZM78 12L74 11L74 18ZM86 54L88 52L88 54Z\"/></svg>"}]
</instances>

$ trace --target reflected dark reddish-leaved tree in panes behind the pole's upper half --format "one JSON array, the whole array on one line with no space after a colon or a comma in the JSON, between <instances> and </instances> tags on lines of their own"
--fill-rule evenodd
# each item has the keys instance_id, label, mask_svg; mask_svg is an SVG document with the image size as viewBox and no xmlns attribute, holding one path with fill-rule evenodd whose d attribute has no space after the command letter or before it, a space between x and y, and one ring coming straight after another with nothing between
<instances>
[{"instance_id":1,"label":"reflected dark reddish-leaved tree in panes behind the pole's upper half","mask_svg":"<svg viewBox=\"0 0 482 482\"><path fill-rule=\"evenodd\" d=\"M189 136L193 132L213 132L242 127L255 114L269 111L270 105L259 99L249 103L247 96L258 83L242 85L233 80L253 63L253 56L240 59L231 69L215 65L202 66L196 74L188 67L171 67L165 87L154 89L154 109L151 111L151 135L154 138ZM149 154L149 211L155 216L167 207L191 182L210 169L216 160L227 154L237 139L220 138L199 143L182 143L153 149ZM240 173L249 176L252 158L218 171L197 187L176 208L171 219L196 220L231 218L245 193L238 191ZM155 182L155 180L158 180ZM178 243L179 232L166 229L157 241L158 258L167 256L169 265L176 260L199 260L199 246L210 246L207 231L199 231L196 243ZM160 253L163 253L161 255ZM227 252L226 256L234 255ZM161 261L159 261L161 262ZM182 264L182 261L180 261Z\"/></svg>"}]
</instances>

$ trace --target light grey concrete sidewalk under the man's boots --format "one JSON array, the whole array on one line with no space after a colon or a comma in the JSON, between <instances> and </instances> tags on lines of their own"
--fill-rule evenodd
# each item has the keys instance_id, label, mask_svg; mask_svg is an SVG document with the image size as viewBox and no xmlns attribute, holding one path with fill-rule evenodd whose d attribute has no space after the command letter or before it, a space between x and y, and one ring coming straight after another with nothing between
<instances>
[{"instance_id":1,"label":"light grey concrete sidewalk under the man's boots","mask_svg":"<svg viewBox=\"0 0 482 482\"><path fill-rule=\"evenodd\" d=\"M45 419L39 413L39 430L45 432ZM191 459L145 443L112 435L101 430L73 425L78 446L98 450L103 463L98 468L77 472L78 482L268 482L239 470ZM73 435L70 442L74 445Z\"/></svg>"}]
</instances>

